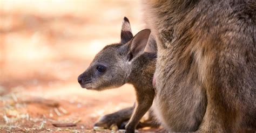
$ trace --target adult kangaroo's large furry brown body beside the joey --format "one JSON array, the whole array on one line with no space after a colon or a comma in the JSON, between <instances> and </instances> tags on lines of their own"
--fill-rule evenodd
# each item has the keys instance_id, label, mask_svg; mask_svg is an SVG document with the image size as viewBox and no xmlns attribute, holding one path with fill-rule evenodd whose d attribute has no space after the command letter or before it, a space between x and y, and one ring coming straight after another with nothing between
<instances>
[{"instance_id":1,"label":"adult kangaroo's large furry brown body beside the joey","mask_svg":"<svg viewBox=\"0 0 256 133\"><path fill-rule=\"evenodd\" d=\"M158 45L159 121L170 131L256 129L256 2L143 1Z\"/></svg>"}]
</instances>

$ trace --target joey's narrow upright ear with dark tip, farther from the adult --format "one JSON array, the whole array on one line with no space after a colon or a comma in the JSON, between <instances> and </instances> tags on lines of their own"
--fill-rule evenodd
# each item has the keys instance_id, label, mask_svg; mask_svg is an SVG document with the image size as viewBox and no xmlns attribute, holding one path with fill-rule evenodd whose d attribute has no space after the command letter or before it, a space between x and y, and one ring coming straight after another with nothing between
<instances>
[{"instance_id":1,"label":"joey's narrow upright ear with dark tip, farther from the adult","mask_svg":"<svg viewBox=\"0 0 256 133\"><path fill-rule=\"evenodd\" d=\"M128 41L132 39L132 30L131 25L128 18L124 17L122 30L121 30L121 43L126 44Z\"/></svg>"}]
</instances>

